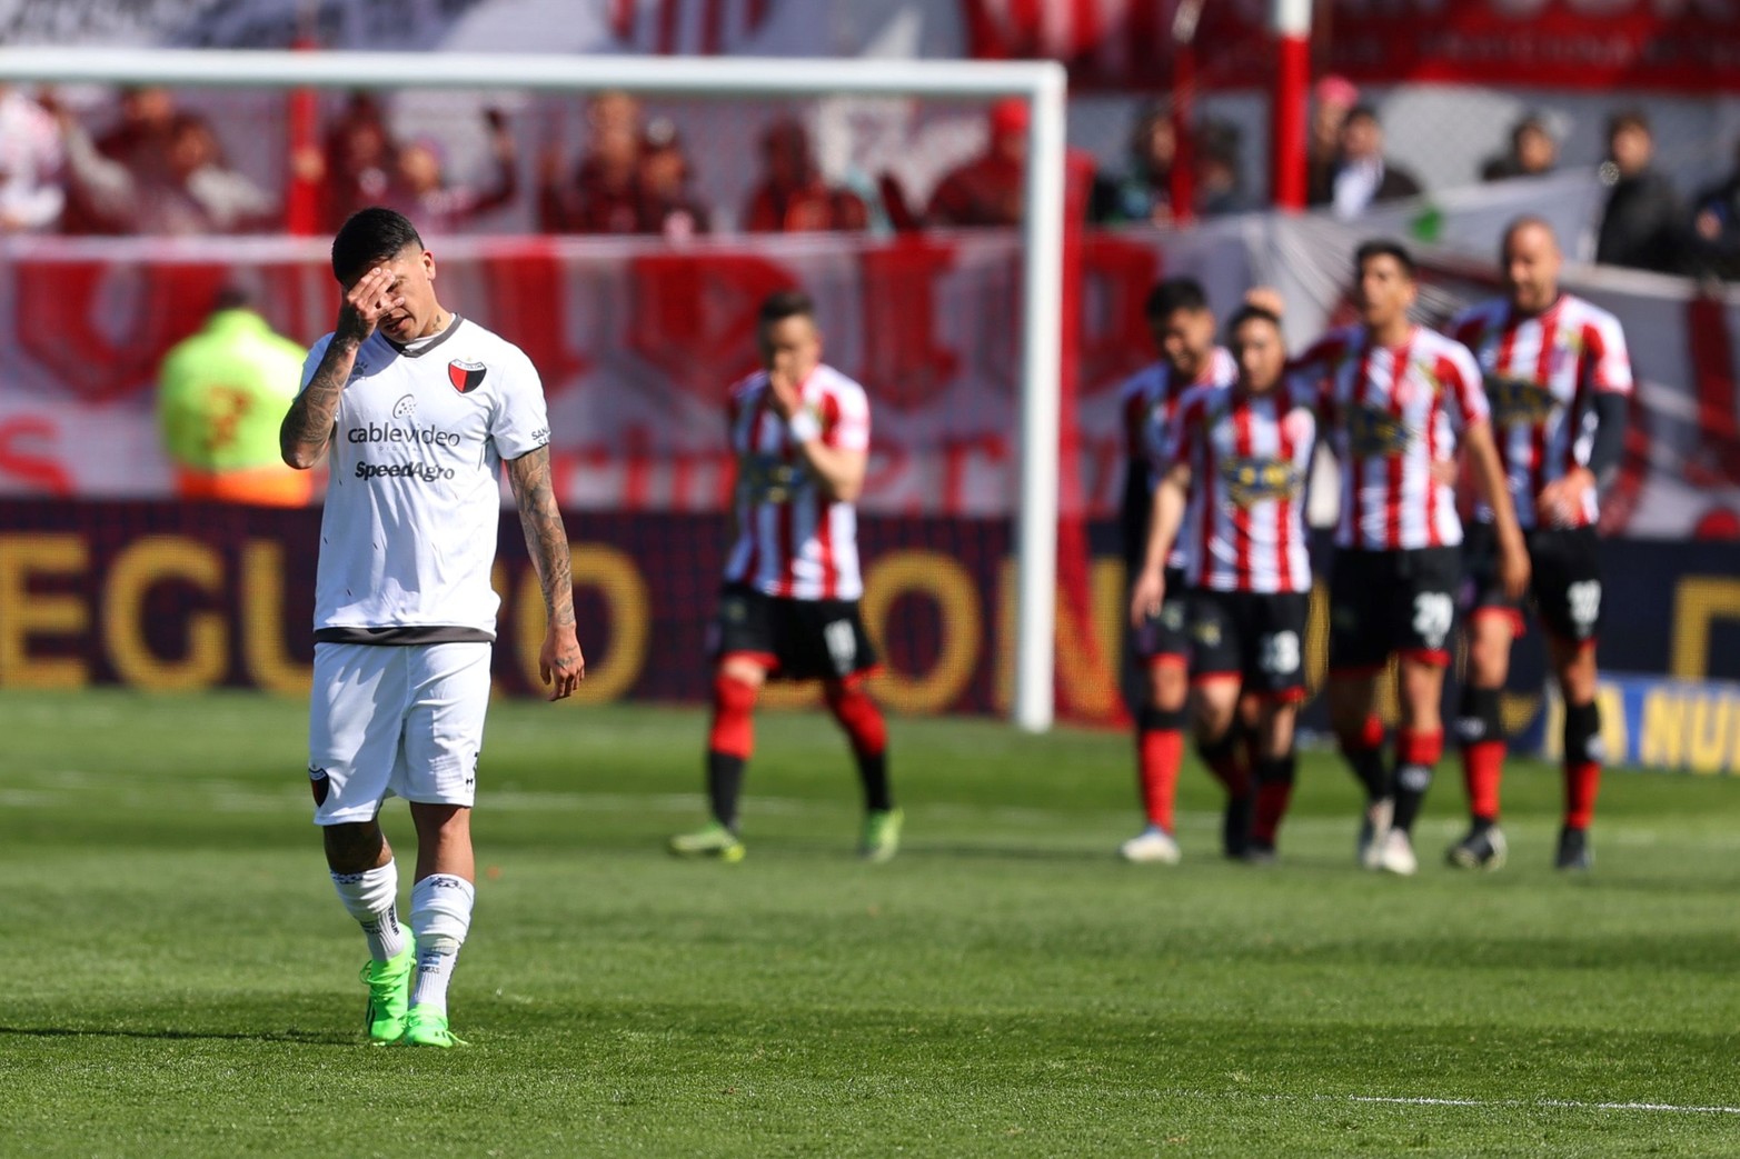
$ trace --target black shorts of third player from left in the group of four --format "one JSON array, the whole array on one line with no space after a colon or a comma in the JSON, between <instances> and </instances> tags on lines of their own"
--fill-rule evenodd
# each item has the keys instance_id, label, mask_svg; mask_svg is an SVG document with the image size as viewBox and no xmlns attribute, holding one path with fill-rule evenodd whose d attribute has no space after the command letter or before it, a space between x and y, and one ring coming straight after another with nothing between
<instances>
[{"instance_id":1,"label":"black shorts of third player from left in the group of four","mask_svg":"<svg viewBox=\"0 0 1740 1159\"><path fill-rule=\"evenodd\" d=\"M1449 665L1462 548L1338 548L1329 567L1329 670L1371 672L1394 653Z\"/></svg>"}]
</instances>

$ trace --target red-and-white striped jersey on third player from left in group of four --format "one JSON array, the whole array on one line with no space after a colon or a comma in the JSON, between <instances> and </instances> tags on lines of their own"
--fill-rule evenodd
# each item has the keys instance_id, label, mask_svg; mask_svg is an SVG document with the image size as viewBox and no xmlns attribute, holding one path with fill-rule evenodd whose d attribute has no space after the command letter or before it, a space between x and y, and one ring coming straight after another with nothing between
<instances>
[{"instance_id":1,"label":"red-and-white striped jersey on third player from left in group of four","mask_svg":"<svg viewBox=\"0 0 1740 1159\"><path fill-rule=\"evenodd\" d=\"M1481 369L1462 343L1413 327L1397 348L1364 327L1329 331L1293 362L1317 388L1317 416L1342 465L1338 546L1401 552L1462 543L1462 519L1434 463L1488 418Z\"/></svg>"}]
</instances>

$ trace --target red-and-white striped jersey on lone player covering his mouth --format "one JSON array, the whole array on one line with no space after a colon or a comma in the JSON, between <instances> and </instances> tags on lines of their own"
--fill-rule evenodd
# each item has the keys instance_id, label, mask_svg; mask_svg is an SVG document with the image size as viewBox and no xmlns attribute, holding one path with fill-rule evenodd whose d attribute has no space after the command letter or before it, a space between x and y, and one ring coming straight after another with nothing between
<instances>
[{"instance_id":1,"label":"red-and-white striped jersey on lone player covering his mouth","mask_svg":"<svg viewBox=\"0 0 1740 1159\"><path fill-rule=\"evenodd\" d=\"M830 365L799 388L830 447L870 449L870 399ZM856 600L858 512L823 499L785 419L771 405L767 372L731 388L731 451L738 458L738 539L726 557L726 581L797 600Z\"/></svg>"}]
</instances>

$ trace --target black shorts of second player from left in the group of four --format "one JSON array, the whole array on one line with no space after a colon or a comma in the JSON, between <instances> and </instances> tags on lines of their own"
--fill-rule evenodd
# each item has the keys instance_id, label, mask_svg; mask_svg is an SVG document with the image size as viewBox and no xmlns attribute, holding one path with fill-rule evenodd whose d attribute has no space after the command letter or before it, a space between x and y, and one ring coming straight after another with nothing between
<instances>
[{"instance_id":1,"label":"black shorts of second player from left in the group of four","mask_svg":"<svg viewBox=\"0 0 1740 1159\"><path fill-rule=\"evenodd\" d=\"M1195 680L1237 677L1246 693L1305 700L1308 592L1190 593Z\"/></svg>"}]
</instances>

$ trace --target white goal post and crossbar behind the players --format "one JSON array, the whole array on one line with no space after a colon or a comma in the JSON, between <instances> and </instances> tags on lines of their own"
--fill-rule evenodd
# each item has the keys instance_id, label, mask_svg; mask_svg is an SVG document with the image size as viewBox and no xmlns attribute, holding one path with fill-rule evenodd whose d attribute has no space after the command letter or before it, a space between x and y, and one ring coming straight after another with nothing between
<instances>
[{"instance_id":1,"label":"white goal post and crossbar behind the players","mask_svg":"<svg viewBox=\"0 0 1740 1159\"><path fill-rule=\"evenodd\" d=\"M548 54L0 49L0 82L237 89L623 89L689 97L1020 97L1030 110L1021 268L1016 496L1016 726L1053 719L1058 574L1058 381L1063 313L1063 99L1053 61L626 57Z\"/></svg>"}]
</instances>

